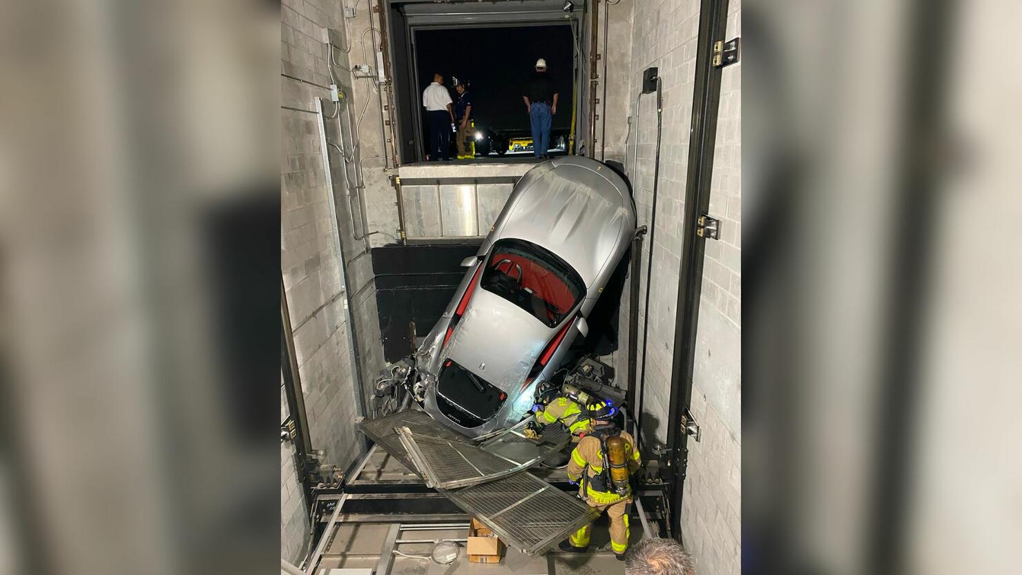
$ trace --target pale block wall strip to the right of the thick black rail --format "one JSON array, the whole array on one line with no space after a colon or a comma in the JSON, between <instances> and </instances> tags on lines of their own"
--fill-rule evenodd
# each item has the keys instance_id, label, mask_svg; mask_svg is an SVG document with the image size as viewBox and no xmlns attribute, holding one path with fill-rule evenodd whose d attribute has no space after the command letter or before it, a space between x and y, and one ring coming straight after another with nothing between
<instances>
[{"instance_id":1,"label":"pale block wall strip to the right of the thick black rail","mask_svg":"<svg viewBox=\"0 0 1022 575\"><path fill-rule=\"evenodd\" d=\"M738 36L741 4L731 0L726 38ZM706 243L692 390L702 440L689 441L682 505L684 542L708 575L741 572L741 61L722 71L709 204L722 230Z\"/></svg>"}]
</instances>

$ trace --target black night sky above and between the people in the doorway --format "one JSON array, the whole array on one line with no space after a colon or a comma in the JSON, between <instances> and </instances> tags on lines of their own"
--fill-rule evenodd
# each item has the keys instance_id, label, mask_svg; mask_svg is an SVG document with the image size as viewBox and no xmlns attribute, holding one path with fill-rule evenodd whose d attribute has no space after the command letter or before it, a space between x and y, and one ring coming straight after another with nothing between
<instances>
[{"instance_id":1,"label":"black night sky above and between the people in the doorway","mask_svg":"<svg viewBox=\"0 0 1022 575\"><path fill-rule=\"evenodd\" d=\"M571 29L567 26L423 30L416 33L419 94L444 75L458 101L453 76L471 81L475 125L528 133L521 101L536 60L546 58L558 98L554 130L571 127Z\"/></svg>"}]
</instances>

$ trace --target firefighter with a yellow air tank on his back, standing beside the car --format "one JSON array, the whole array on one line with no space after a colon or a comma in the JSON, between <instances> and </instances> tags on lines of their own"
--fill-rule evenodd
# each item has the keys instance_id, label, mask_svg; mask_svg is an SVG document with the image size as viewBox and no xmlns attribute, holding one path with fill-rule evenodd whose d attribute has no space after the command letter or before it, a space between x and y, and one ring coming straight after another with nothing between
<instances>
[{"instance_id":1,"label":"firefighter with a yellow air tank on his back, standing beside the car","mask_svg":"<svg viewBox=\"0 0 1022 575\"><path fill-rule=\"evenodd\" d=\"M629 512L632 511L630 478L642 464L635 439L612 421L617 410L605 401L590 415L592 433L585 434L571 451L568 481L578 483L578 496L610 520L610 547L619 561L629 548ZM584 553L589 547L592 524L561 541L561 550Z\"/></svg>"}]
</instances>

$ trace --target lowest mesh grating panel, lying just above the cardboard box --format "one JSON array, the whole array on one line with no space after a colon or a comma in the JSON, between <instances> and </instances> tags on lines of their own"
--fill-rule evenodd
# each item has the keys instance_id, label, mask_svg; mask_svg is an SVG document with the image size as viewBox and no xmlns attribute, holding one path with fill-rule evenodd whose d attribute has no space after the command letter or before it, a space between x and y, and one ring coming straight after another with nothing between
<instances>
[{"instance_id":1,"label":"lowest mesh grating panel, lying just above the cardboard box","mask_svg":"<svg viewBox=\"0 0 1022 575\"><path fill-rule=\"evenodd\" d=\"M531 556L544 554L569 533L599 517L585 501L530 473L444 491L444 494L478 518L508 544Z\"/></svg>"}]
</instances>

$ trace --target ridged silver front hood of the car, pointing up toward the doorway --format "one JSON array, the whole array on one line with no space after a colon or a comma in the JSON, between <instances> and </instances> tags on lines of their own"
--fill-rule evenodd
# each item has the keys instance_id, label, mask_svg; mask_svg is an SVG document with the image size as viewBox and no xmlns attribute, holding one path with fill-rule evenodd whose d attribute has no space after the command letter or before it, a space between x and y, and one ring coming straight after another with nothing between
<instances>
[{"instance_id":1,"label":"ridged silver front hood of the car, pointing up toward the doorway","mask_svg":"<svg viewBox=\"0 0 1022 575\"><path fill-rule=\"evenodd\" d=\"M558 158L515 194L493 241L518 238L541 245L590 287L617 251L622 229L635 228L632 200L614 181L619 178L599 162Z\"/></svg>"}]
</instances>

